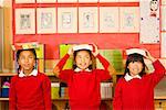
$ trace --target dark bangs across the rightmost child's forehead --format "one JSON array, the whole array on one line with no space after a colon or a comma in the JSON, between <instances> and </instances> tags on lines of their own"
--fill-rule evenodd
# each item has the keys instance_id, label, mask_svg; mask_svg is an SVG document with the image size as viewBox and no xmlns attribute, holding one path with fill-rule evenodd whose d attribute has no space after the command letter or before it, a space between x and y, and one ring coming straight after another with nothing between
<instances>
[{"instance_id":1,"label":"dark bangs across the rightmost child's forehead","mask_svg":"<svg viewBox=\"0 0 166 110\"><path fill-rule=\"evenodd\" d=\"M144 63L143 55L139 55L139 54L131 54L131 55L128 55L127 61L128 61L128 63L131 63L131 62L133 62L133 63L134 62Z\"/></svg>"}]
</instances>

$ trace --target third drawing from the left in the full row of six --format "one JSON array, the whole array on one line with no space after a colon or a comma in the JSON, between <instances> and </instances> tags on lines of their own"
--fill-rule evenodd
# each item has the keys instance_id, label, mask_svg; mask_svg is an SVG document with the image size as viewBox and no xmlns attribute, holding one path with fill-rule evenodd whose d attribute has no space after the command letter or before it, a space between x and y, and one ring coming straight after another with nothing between
<instances>
[{"instance_id":1,"label":"third drawing from the left in the full row of six","mask_svg":"<svg viewBox=\"0 0 166 110\"><path fill-rule=\"evenodd\" d=\"M77 33L77 8L58 8L58 33Z\"/></svg>"}]
</instances>

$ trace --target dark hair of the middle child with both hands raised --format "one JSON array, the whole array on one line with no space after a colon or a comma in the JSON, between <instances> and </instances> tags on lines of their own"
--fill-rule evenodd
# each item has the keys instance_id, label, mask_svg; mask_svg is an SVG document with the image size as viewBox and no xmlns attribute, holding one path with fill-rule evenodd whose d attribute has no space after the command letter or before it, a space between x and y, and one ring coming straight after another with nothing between
<instances>
[{"instance_id":1,"label":"dark hair of the middle child with both hands raised","mask_svg":"<svg viewBox=\"0 0 166 110\"><path fill-rule=\"evenodd\" d=\"M94 55L92 54L92 52L91 52L90 50L79 50L79 51L74 51L74 54L73 54L74 62L75 62L75 57L76 57L77 53L81 52L81 51L86 51L86 52L90 54L92 64L89 66L89 69L95 69L95 68L96 68L95 57L94 57ZM73 63L73 69L75 69L76 67L77 67L76 64Z\"/></svg>"}]
</instances>

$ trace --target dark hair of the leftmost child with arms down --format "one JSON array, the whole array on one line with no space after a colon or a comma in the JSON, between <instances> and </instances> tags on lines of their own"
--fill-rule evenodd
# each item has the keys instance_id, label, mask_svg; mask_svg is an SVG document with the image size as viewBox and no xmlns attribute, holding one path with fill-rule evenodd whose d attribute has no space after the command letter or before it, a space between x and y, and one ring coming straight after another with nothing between
<instances>
[{"instance_id":1,"label":"dark hair of the leftmost child with arms down","mask_svg":"<svg viewBox=\"0 0 166 110\"><path fill-rule=\"evenodd\" d=\"M19 61L20 54L21 54L22 52L24 52L24 51L30 51L30 52L32 52L33 55L34 55L34 59L35 59L35 62L37 62L37 53L35 53L35 50L34 50L34 48L18 50L18 52L17 52L17 62ZM19 67L18 67L18 74L19 74L19 70L20 70L20 65L19 65Z\"/></svg>"}]
</instances>

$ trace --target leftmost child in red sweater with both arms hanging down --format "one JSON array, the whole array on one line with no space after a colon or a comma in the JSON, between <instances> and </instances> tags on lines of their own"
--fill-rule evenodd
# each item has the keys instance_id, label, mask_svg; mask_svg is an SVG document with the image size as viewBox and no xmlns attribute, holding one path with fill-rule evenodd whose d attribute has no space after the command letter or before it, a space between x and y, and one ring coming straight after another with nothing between
<instances>
[{"instance_id":1,"label":"leftmost child in red sweater with both arms hanging down","mask_svg":"<svg viewBox=\"0 0 166 110\"><path fill-rule=\"evenodd\" d=\"M34 48L17 52L19 70L11 79L10 110L51 110L51 81L34 66Z\"/></svg>"}]
</instances>

